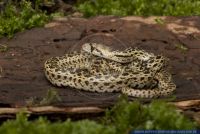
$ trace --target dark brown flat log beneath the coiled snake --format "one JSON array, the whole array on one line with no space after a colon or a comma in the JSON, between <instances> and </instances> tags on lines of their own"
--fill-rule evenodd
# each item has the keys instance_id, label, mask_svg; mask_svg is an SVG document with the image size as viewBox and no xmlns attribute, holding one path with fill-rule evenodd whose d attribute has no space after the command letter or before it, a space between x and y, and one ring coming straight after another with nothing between
<instances>
[{"instance_id":1,"label":"dark brown flat log beneath the coiled snake","mask_svg":"<svg viewBox=\"0 0 200 134\"><path fill-rule=\"evenodd\" d=\"M43 66L47 59L69 51L80 51L81 45L86 42L104 43L119 50L138 47L168 57L170 71L177 85L174 94L176 99L173 101L199 99L200 17L159 17L163 24L157 23L156 18L57 18L43 28L17 33L12 39L1 38L0 48L7 46L7 49L0 51L0 111L3 114L9 114L9 111L16 113L29 106L28 100L45 98L49 89L56 90L61 98L61 101L45 107L50 112L68 113L69 107L71 112L76 113L76 107L84 110L95 107L89 110L95 113L115 104L120 93L59 88L50 84L44 76ZM176 105L183 108L188 104ZM27 112L32 113L37 113L36 109L30 106L26 108Z\"/></svg>"}]
</instances>

